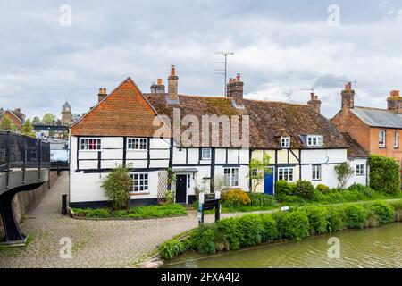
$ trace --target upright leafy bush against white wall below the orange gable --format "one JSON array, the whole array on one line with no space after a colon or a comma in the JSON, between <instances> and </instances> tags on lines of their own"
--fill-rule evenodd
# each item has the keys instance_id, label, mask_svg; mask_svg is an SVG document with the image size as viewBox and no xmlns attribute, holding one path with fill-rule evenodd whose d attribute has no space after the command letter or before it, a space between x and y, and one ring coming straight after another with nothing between
<instances>
[{"instance_id":1,"label":"upright leafy bush against white wall below the orange gable","mask_svg":"<svg viewBox=\"0 0 402 286\"><path fill-rule=\"evenodd\" d=\"M125 166L114 168L106 176L102 182L102 188L105 189L105 195L111 201L114 210L129 208L129 189L132 184L129 169Z\"/></svg>"}]
</instances>

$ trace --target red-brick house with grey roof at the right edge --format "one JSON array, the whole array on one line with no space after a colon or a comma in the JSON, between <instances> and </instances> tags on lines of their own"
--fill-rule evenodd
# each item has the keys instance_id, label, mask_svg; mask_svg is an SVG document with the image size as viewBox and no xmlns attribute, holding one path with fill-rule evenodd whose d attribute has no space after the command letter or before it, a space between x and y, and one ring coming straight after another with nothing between
<instances>
[{"instance_id":1,"label":"red-brick house with grey roof at the right edge","mask_svg":"<svg viewBox=\"0 0 402 286\"><path fill-rule=\"evenodd\" d=\"M341 109L332 119L341 132L356 139L369 154L393 157L402 163L399 135L402 130L402 97L392 90L387 109L355 106L351 83L341 92Z\"/></svg>"}]
</instances>

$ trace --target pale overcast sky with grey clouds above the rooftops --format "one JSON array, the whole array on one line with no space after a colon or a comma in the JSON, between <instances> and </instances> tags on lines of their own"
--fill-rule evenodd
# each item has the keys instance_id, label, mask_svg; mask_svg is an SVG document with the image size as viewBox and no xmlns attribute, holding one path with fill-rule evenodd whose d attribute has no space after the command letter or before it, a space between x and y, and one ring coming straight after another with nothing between
<instances>
[{"instance_id":1,"label":"pale overcast sky with grey clouds above the rooftops","mask_svg":"<svg viewBox=\"0 0 402 286\"><path fill-rule=\"evenodd\" d=\"M130 76L148 92L171 64L180 93L222 95L215 51L235 53L229 74L241 73L245 97L306 103L300 89L314 87L329 117L342 80L357 80L356 105L385 108L402 88L401 1L83 2L1 0L0 107L60 115L67 99L81 114L98 88Z\"/></svg>"}]
</instances>

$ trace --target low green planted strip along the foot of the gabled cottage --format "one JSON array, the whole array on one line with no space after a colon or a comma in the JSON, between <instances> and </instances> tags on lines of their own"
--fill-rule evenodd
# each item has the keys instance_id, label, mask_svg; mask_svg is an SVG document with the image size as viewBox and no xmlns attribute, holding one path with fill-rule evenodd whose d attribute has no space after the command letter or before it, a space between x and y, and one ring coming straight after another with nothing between
<instances>
[{"instance_id":1,"label":"low green planted strip along the foot of the gabled cottage","mask_svg":"<svg viewBox=\"0 0 402 286\"><path fill-rule=\"evenodd\" d=\"M77 217L86 218L158 218L187 214L180 204L130 207L128 210L113 211L109 208L73 208Z\"/></svg>"}]
</instances>

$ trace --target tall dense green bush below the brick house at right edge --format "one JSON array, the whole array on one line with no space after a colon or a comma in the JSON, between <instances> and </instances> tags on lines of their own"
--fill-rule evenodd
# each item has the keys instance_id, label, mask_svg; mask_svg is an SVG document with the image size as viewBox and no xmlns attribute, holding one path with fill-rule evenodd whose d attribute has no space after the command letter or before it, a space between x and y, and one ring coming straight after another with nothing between
<instances>
[{"instance_id":1,"label":"tall dense green bush below the brick house at right edge","mask_svg":"<svg viewBox=\"0 0 402 286\"><path fill-rule=\"evenodd\" d=\"M369 165L370 187L388 193L400 191L400 167L395 159L372 155Z\"/></svg>"}]
</instances>

